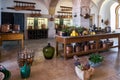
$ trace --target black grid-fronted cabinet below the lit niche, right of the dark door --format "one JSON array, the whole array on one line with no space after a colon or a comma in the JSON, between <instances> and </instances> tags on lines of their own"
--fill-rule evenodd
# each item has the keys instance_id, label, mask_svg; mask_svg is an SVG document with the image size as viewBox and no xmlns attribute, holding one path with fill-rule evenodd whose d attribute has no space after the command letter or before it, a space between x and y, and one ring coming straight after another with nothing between
<instances>
[{"instance_id":1,"label":"black grid-fronted cabinet below the lit niche, right of the dark door","mask_svg":"<svg viewBox=\"0 0 120 80\"><path fill-rule=\"evenodd\" d=\"M28 39L48 38L48 29L27 30Z\"/></svg>"}]
</instances>

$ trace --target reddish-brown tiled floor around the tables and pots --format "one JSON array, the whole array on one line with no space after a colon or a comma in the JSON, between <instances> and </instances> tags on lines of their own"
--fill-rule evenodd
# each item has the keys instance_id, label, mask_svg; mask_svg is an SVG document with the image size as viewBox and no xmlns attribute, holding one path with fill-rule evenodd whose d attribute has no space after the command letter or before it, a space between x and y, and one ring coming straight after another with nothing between
<instances>
[{"instance_id":1,"label":"reddish-brown tiled floor around the tables and pots","mask_svg":"<svg viewBox=\"0 0 120 80\"><path fill-rule=\"evenodd\" d=\"M74 60L64 60L62 57L54 57L45 60L42 48L50 42L55 47L54 39L26 40L25 46L35 51L35 60L31 67L31 75L27 80L80 80L74 71ZM16 41L4 42L1 48L1 65L11 71L10 80L23 80L20 76L17 64L17 52L19 46ZM104 62L95 68L95 74L91 80L120 80L120 56L118 49L100 53L104 56ZM88 55L87 55L88 56ZM81 56L83 59L86 56Z\"/></svg>"}]
</instances>

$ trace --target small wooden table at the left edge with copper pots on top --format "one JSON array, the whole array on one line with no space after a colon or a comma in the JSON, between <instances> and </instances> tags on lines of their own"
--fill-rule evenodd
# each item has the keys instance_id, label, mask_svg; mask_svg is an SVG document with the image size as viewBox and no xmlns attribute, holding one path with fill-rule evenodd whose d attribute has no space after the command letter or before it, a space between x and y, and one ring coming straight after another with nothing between
<instances>
[{"instance_id":1,"label":"small wooden table at the left edge with copper pots on top","mask_svg":"<svg viewBox=\"0 0 120 80\"><path fill-rule=\"evenodd\" d=\"M3 41L21 41L21 47L24 48L24 36L23 33L0 33L0 45Z\"/></svg>"}]
</instances>

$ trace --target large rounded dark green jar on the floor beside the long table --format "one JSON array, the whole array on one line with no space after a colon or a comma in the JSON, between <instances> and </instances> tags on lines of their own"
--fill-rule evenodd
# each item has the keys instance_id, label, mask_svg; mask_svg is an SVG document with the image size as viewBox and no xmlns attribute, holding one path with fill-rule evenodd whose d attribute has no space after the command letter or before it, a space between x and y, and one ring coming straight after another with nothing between
<instances>
[{"instance_id":1,"label":"large rounded dark green jar on the floor beside the long table","mask_svg":"<svg viewBox=\"0 0 120 80\"><path fill-rule=\"evenodd\" d=\"M45 59L52 59L54 56L55 48L48 43L46 47L43 48L43 54Z\"/></svg>"}]
</instances>

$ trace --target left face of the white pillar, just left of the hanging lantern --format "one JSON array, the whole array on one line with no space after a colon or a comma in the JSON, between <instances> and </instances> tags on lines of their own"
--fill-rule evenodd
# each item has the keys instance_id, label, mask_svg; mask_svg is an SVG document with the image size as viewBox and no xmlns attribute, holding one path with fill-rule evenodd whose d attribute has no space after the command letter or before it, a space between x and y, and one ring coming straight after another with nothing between
<instances>
[{"instance_id":1,"label":"left face of the white pillar, just left of the hanging lantern","mask_svg":"<svg viewBox=\"0 0 120 80\"><path fill-rule=\"evenodd\" d=\"M73 14L73 25L74 26L80 26L81 20L80 20L80 0L72 0L73 6L72 6L72 14Z\"/></svg>"}]
</instances>

